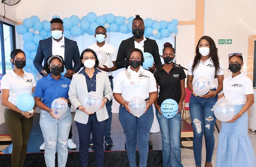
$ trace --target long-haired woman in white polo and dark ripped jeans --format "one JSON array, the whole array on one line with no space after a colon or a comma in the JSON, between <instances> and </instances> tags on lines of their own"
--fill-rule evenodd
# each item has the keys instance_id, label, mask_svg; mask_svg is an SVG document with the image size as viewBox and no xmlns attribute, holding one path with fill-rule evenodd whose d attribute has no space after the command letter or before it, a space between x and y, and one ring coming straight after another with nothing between
<instances>
[{"instance_id":1,"label":"long-haired woman in white polo and dark ripped jeans","mask_svg":"<svg viewBox=\"0 0 256 167\"><path fill-rule=\"evenodd\" d=\"M223 87L223 65L219 60L216 45L209 36L203 36L196 46L196 56L189 62L187 87L192 92L189 109L193 125L193 150L196 166L201 166L202 139L205 137L206 160L205 167L212 167L211 158L214 150L213 130L216 117L212 111L217 102L218 93ZM211 82L209 93L195 95L192 87L193 78L206 77ZM218 79L218 86L214 83Z\"/></svg>"}]
</instances>

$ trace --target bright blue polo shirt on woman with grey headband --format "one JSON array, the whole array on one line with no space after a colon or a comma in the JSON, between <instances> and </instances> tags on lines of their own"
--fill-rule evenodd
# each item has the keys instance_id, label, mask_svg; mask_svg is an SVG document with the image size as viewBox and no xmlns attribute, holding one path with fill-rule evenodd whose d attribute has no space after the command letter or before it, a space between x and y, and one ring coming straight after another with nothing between
<instances>
[{"instance_id":1,"label":"bright blue polo shirt on woman with grey headband","mask_svg":"<svg viewBox=\"0 0 256 167\"><path fill-rule=\"evenodd\" d=\"M71 80L61 74L59 80L52 78L51 74L37 81L35 97L42 98L42 102L51 108L52 102L59 97L68 99L68 90Z\"/></svg>"}]
</instances>

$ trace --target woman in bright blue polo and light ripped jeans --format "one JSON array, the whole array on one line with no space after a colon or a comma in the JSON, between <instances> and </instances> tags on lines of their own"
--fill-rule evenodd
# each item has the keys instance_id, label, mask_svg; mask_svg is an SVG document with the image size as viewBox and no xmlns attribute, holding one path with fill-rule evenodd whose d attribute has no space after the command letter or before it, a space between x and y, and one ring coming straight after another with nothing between
<instances>
[{"instance_id":1,"label":"woman in bright blue polo and light ripped jeans","mask_svg":"<svg viewBox=\"0 0 256 167\"><path fill-rule=\"evenodd\" d=\"M46 60L49 73L47 77L38 80L35 89L35 103L42 109L40 114L40 127L45 141L46 166L55 166L55 152L57 146L58 166L65 166L68 157L67 140L72 124L70 108L63 117L56 118L53 115L51 104L56 98L62 98L67 103L70 79L64 77L64 60L55 55Z\"/></svg>"}]
</instances>

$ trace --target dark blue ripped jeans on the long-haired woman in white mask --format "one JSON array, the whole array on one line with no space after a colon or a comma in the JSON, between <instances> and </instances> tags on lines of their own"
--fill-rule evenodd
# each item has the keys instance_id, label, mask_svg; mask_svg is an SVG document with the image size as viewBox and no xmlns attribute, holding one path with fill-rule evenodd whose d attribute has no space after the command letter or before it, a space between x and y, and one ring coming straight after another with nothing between
<instances>
[{"instance_id":1,"label":"dark blue ripped jeans on the long-haired woman in white mask","mask_svg":"<svg viewBox=\"0 0 256 167\"><path fill-rule=\"evenodd\" d=\"M216 89L211 89L215 91ZM217 102L218 95L209 99L191 95L189 110L193 125L193 149L196 166L201 166L202 140L205 137L206 160L211 162L214 150L214 125L216 117L213 113L213 106Z\"/></svg>"}]
</instances>

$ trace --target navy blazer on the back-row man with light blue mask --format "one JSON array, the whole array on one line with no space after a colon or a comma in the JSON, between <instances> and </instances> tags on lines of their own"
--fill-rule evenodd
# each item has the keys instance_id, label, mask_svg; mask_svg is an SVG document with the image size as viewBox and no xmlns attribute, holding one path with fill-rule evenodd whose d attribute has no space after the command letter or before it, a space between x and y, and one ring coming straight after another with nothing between
<instances>
[{"instance_id":1,"label":"navy blazer on the back-row man with light blue mask","mask_svg":"<svg viewBox=\"0 0 256 167\"><path fill-rule=\"evenodd\" d=\"M73 70L74 72L78 72L81 68L80 64L80 55L79 55L79 49L77 46L77 43L75 41L72 41L70 39L65 39L65 52L64 52L64 62L65 67L67 70ZM37 54L34 59L34 65L37 69L37 71L41 73L43 69L46 67L46 62L44 62L44 67L42 66L43 60L46 61L47 57L52 56L52 37L49 37L44 40L39 41L39 45L37 48ZM73 63L74 62L74 67Z\"/></svg>"}]
</instances>

